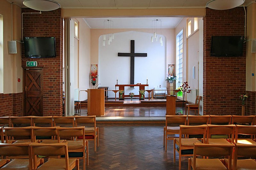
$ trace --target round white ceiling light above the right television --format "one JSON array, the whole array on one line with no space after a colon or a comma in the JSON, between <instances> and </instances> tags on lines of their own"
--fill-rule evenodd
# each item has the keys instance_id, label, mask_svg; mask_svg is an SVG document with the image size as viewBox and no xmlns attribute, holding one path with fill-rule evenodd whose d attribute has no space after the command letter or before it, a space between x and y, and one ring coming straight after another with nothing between
<instances>
[{"instance_id":1,"label":"round white ceiling light above the right television","mask_svg":"<svg viewBox=\"0 0 256 170\"><path fill-rule=\"evenodd\" d=\"M245 0L211 0L206 7L214 10L228 10L244 4Z\"/></svg>"}]
</instances>

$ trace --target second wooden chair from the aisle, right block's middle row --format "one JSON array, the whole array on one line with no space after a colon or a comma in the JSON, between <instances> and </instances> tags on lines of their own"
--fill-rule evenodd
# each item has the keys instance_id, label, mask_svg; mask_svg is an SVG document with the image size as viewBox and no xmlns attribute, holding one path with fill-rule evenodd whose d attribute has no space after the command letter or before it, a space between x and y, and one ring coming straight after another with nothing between
<instances>
[{"instance_id":1,"label":"second wooden chair from the aisle, right block's middle row","mask_svg":"<svg viewBox=\"0 0 256 170\"><path fill-rule=\"evenodd\" d=\"M229 144L234 143L236 125L211 125L207 127L207 144ZM231 137L231 139L230 139Z\"/></svg>"}]
</instances>

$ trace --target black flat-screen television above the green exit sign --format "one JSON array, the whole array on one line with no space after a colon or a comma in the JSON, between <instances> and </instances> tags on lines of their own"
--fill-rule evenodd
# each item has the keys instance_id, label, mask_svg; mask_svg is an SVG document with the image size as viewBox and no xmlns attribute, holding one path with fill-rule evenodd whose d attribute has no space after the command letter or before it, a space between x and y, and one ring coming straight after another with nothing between
<instances>
[{"instance_id":1,"label":"black flat-screen television above the green exit sign","mask_svg":"<svg viewBox=\"0 0 256 170\"><path fill-rule=\"evenodd\" d=\"M25 57L56 57L55 37L25 37Z\"/></svg>"}]
</instances>

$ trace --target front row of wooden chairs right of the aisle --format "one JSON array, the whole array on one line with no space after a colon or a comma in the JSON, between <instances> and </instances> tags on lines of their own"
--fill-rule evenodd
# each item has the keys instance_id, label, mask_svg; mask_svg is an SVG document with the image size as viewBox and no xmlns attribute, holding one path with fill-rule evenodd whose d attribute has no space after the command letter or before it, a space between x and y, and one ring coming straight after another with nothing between
<instances>
[{"instance_id":1,"label":"front row of wooden chairs right of the aisle","mask_svg":"<svg viewBox=\"0 0 256 170\"><path fill-rule=\"evenodd\" d=\"M256 125L256 116L238 116L238 115L166 115L164 126L164 146L167 151L167 140L173 140L174 137L168 135L177 135L180 132L179 125L202 125L202 124L243 124Z\"/></svg>"}]
</instances>

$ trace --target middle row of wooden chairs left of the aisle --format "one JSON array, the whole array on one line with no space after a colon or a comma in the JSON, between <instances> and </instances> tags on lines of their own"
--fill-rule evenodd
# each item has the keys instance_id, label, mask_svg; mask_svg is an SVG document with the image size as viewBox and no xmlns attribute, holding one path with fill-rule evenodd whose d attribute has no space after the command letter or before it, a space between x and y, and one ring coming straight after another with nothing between
<instances>
[{"instance_id":1,"label":"middle row of wooden chairs left of the aisle","mask_svg":"<svg viewBox=\"0 0 256 170\"><path fill-rule=\"evenodd\" d=\"M7 144L37 142L40 144L68 144L68 155L72 158L82 158L83 167L89 165L88 141L85 140L83 127L4 127ZM56 139L57 137L57 139ZM63 140L64 139L64 140ZM86 161L85 161L86 159Z\"/></svg>"}]
</instances>

